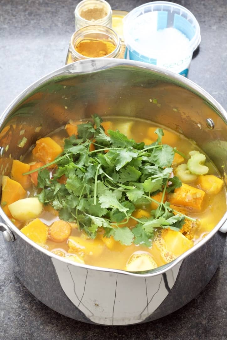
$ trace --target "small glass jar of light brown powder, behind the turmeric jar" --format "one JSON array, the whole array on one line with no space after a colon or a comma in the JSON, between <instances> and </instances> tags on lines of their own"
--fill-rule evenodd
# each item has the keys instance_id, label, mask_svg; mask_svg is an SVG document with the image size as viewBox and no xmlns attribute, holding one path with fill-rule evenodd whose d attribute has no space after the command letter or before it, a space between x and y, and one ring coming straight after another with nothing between
<instances>
[{"instance_id":1,"label":"small glass jar of light brown powder, behind the turmeric jar","mask_svg":"<svg viewBox=\"0 0 227 340\"><path fill-rule=\"evenodd\" d=\"M111 27L112 10L105 0L83 0L75 9L75 28L88 25L104 25Z\"/></svg>"}]
</instances>

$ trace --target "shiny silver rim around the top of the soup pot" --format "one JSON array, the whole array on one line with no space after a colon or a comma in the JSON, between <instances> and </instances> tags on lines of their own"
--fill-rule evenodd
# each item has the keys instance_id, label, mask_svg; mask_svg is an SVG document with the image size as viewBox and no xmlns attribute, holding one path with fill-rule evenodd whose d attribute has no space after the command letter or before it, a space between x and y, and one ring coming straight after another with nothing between
<instances>
[{"instance_id":1,"label":"shiny silver rim around the top of the soup pot","mask_svg":"<svg viewBox=\"0 0 227 340\"><path fill-rule=\"evenodd\" d=\"M208 102L209 105L212 106L212 108L215 110L215 112L222 118L226 124L227 124L227 113L225 109L208 93L206 92L202 87L195 84L191 80L182 77L179 74L173 73L168 70L161 69L158 66L147 64L143 62L137 62L137 61L131 61L131 60L117 60L113 58L92 58L88 60L82 60L77 61L75 63L65 65L55 71L52 71L45 75L44 77L40 78L36 82L32 83L30 86L28 86L25 90L23 90L4 110L2 115L0 116L0 127L3 125L4 120L9 115L10 111L22 100L26 95L28 95L32 90L34 90L37 86L42 85L45 81L50 80L53 77L56 77L58 75L61 76L67 76L67 75L76 75L76 74L86 74L86 73L93 73L93 72L99 72L106 69L111 69L115 67L120 66L135 66L140 69L145 70L151 70L154 73L157 73L161 75L163 78L167 78L168 80L172 80L175 82L176 85L181 87L186 87L188 90L192 91L194 94L199 95L202 97L206 102ZM191 253L195 252L198 248L200 248L202 245L204 245L206 242L208 242L213 235L218 232L218 230L222 227L222 225L227 221L227 212L224 214L222 219L217 223L217 225L212 229L212 231L202 240L200 240L197 244L195 244L192 248L190 248L188 251L184 252L180 256L178 256L175 260L172 262L167 263L164 266L158 267L156 269L152 269L149 271L144 272L128 272L124 270L118 270L118 269L110 269L110 268L103 268L103 267L96 267L96 266L90 266L90 265L83 265L80 263L77 263L72 260L67 260L65 258L62 258L54 253L51 253L49 250L44 249L42 246L38 245L37 243L30 240L27 236L25 236L21 231L11 222L11 220L5 215L4 211L0 207L0 215L4 217L4 222L6 222L7 226L19 237L21 237L23 240L25 240L27 243L35 247L37 250L43 252L45 255L55 258L59 261L69 263L71 265L74 265L76 267L82 267L86 269L91 270L98 270L98 271L105 271L105 272L111 272L111 273L119 273L119 274L125 274L125 275L131 275L131 276L138 276L138 277L149 277L149 276L156 276L159 274L162 274L166 272L167 270L173 268L175 265L177 265L179 262L181 262L184 258L188 257Z\"/></svg>"}]
</instances>

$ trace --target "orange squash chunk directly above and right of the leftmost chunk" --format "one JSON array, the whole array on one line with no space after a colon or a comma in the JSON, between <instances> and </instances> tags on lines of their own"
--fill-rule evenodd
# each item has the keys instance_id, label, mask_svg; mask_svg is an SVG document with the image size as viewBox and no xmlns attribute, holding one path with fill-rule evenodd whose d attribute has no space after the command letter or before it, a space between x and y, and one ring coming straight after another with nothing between
<instances>
[{"instance_id":1,"label":"orange squash chunk directly above and right of the leftmost chunk","mask_svg":"<svg viewBox=\"0 0 227 340\"><path fill-rule=\"evenodd\" d=\"M10 176L12 180L19 182L24 189L28 189L31 185L31 177L29 175L22 175L22 173L28 172L29 170L29 164L14 159Z\"/></svg>"}]
</instances>

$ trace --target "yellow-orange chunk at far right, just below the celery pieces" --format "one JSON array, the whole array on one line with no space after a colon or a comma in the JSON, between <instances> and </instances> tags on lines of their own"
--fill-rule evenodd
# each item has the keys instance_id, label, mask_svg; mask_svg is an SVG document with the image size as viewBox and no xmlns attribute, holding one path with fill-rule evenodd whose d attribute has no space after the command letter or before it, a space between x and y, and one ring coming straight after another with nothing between
<instances>
[{"instance_id":1,"label":"yellow-orange chunk at far right, just below the celery pieces","mask_svg":"<svg viewBox=\"0 0 227 340\"><path fill-rule=\"evenodd\" d=\"M224 186L223 180L214 175L200 175L197 184L202 190L209 194L217 194Z\"/></svg>"}]
</instances>

